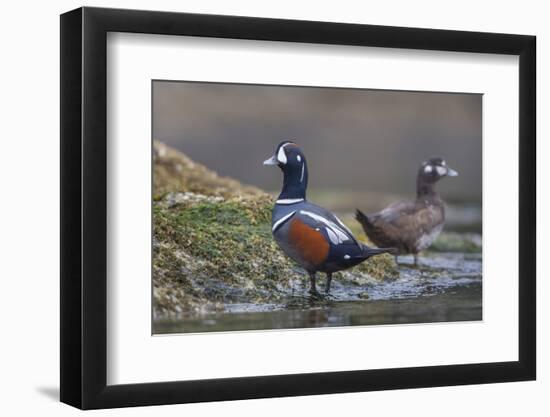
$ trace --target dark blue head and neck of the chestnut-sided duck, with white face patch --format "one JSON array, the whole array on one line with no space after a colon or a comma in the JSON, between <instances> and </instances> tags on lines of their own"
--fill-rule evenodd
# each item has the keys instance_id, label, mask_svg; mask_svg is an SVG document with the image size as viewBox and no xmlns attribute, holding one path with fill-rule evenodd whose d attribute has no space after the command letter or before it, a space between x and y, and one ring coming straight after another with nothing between
<instances>
[{"instance_id":1,"label":"dark blue head and neck of the chestnut-sided duck, with white face patch","mask_svg":"<svg viewBox=\"0 0 550 417\"><path fill-rule=\"evenodd\" d=\"M283 141L264 165L277 165L284 173L280 198L305 198L308 171L306 158L294 142Z\"/></svg>"}]
</instances>

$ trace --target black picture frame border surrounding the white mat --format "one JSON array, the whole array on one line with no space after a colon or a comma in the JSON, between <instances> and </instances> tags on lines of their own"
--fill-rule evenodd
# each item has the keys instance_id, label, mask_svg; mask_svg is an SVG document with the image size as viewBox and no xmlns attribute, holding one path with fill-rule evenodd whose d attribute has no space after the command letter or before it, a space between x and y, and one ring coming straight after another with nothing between
<instances>
[{"instance_id":1,"label":"black picture frame border surrounding the white mat","mask_svg":"<svg viewBox=\"0 0 550 417\"><path fill-rule=\"evenodd\" d=\"M107 385L108 32L519 56L519 360ZM533 380L536 377L536 38L186 13L61 15L61 401L82 409Z\"/></svg>"}]
</instances>

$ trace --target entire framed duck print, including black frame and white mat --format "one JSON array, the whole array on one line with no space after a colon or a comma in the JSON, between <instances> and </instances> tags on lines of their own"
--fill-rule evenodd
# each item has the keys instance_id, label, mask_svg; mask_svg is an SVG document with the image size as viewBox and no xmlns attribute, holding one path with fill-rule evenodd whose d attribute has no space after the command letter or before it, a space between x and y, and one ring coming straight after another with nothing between
<instances>
[{"instance_id":1,"label":"entire framed duck print, including black frame and white mat","mask_svg":"<svg viewBox=\"0 0 550 417\"><path fill-rule=\"evenodd\" d=\"M61 16L61 400L531 380L535 38Z\"/></svg>"}]
</instances>

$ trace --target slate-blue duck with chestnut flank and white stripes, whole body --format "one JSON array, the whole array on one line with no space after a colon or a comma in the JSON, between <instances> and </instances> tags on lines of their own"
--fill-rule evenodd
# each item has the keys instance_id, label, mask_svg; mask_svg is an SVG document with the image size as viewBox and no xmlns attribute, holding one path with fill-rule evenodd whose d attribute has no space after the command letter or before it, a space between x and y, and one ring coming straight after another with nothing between
<instances>
[{"instance_id":1,"label":"slate-blue duck with chestnut flank and white stripes, whole body","mask_svg":"<svg viewBox=\"0 0 550 417\"><path fill-rule=\"evenodd\" d=\"M355 266L371 256L393 252L363 245L334 214L306 200L307 163L298 145L282 142L264 165L277 165L284 174L283 190L272 213L273 237L308 272L312 295L318 295L317 272L327 274L328 293L333 272Z\"/></svg>"}]
</instances>

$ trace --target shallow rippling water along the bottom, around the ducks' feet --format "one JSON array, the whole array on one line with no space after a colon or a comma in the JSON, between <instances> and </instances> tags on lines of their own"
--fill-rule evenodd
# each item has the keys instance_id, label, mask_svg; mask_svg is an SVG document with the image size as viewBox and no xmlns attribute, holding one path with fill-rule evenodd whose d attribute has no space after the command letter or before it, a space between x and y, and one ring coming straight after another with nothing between
<instances>
[{"instance_id":1,"label":"shallow rippling water along the bottom, around the ducks' feet","mask_svg":"<svg viewBox=\"0 0 550 417\"><path fill-rule=\"evenodd\" d=\"M153 323L155 334L307 327L475 321L482 319L481 254L432 253L400 276L366 285L333 279L331 295L314 300L300 284L284 304L232 303L225 311ZM324 280L319 280L324 285Z\"/></svg>"}]
</instances>

